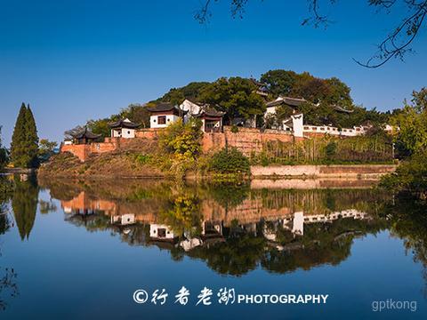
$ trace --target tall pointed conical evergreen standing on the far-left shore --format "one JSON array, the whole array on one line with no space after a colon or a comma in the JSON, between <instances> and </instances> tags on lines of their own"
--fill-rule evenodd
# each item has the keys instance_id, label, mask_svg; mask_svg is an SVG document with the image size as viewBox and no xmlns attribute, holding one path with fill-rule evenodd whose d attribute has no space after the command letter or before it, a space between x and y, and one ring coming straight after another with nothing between
<instances>
[{"instance_id":1,"label":"tall pointed conical evergreen standing on the far-left shore","mask_svg":"<svg viewBox=\"0 0 427 320\"><path fill-rule=\"evenodd\" d=\"M12 135L11 158L13 164L23 168L37 165L38 136L31 108L22 103Z\"/></svg>"}]
</instances>

